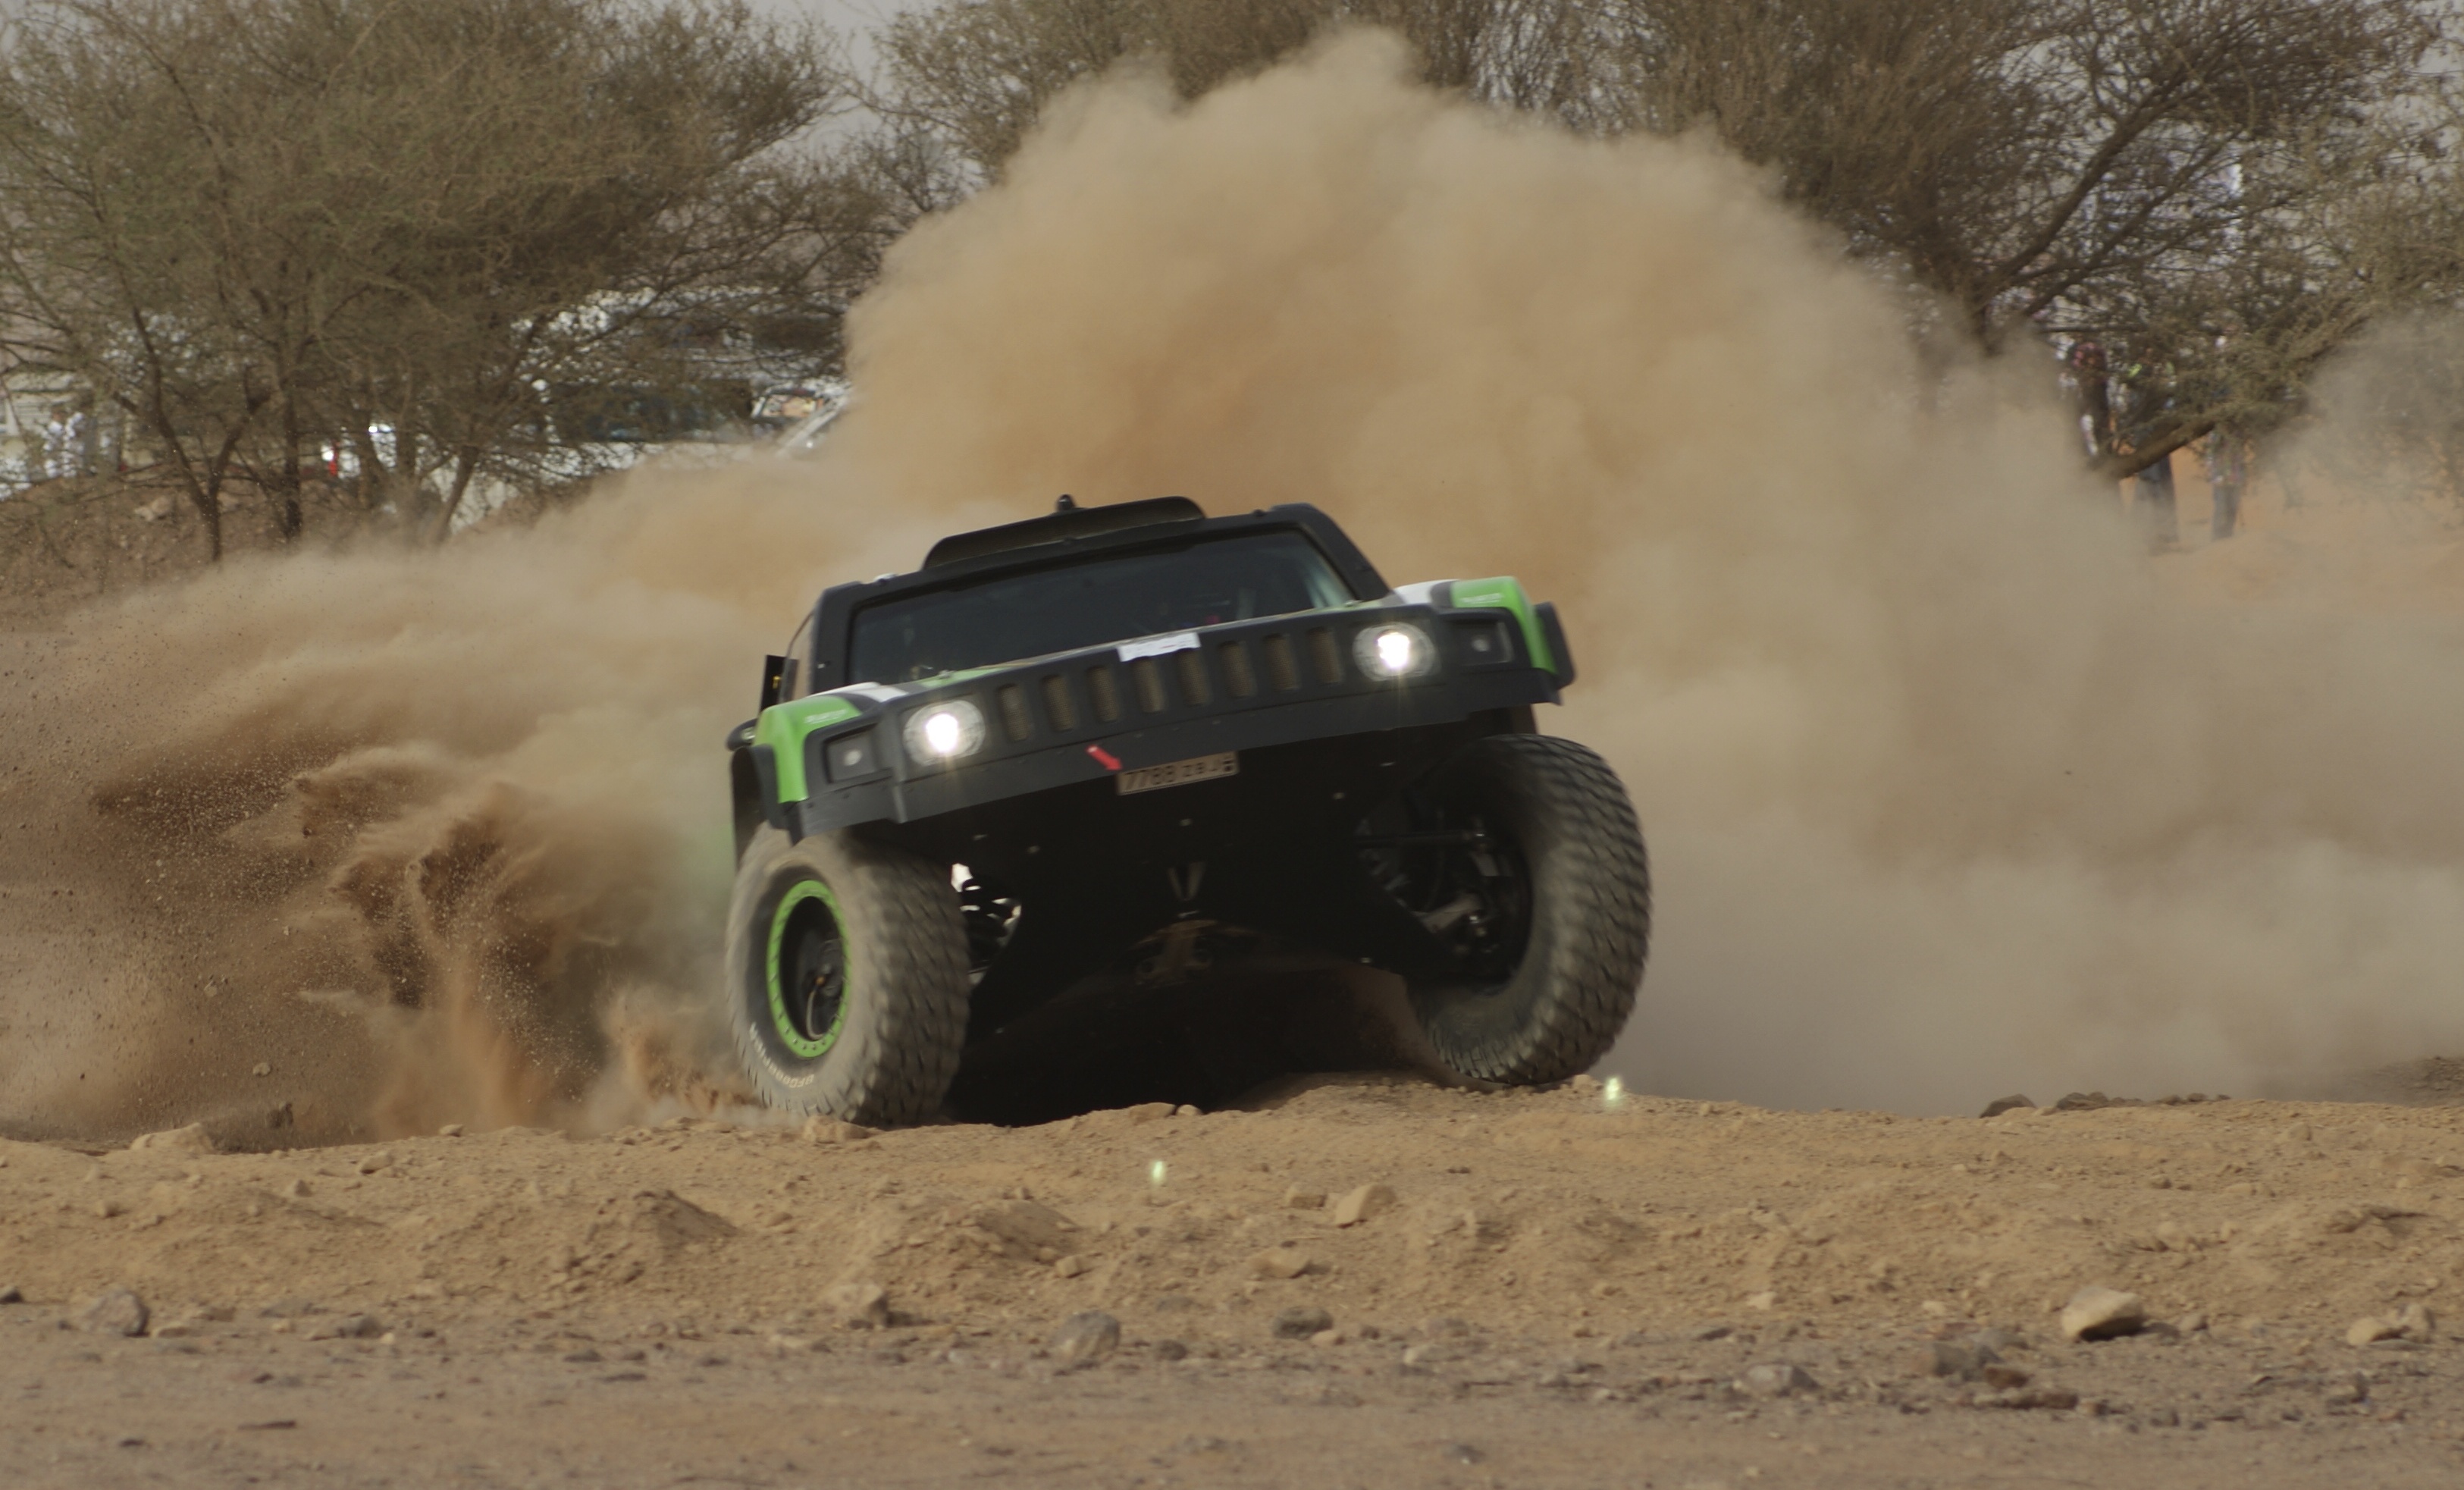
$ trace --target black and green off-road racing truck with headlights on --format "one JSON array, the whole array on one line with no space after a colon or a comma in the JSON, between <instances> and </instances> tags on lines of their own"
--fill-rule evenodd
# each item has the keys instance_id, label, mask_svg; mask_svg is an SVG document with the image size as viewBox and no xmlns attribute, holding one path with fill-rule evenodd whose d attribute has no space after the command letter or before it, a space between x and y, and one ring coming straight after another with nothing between
<instances>
[{"instance_id":1,"label":"black and green off-road racing truck with headlights on","mask_svg":"<svg viewBox=\"0 0 2464 1490\"><path fill-rule=\"evenodd\" d=\"M914 1123L1193 980L1313 960L1400 978L1466 1079L1567 1079L1651 936L1624 786L1533 727L1572 680L1513 579L1390 589L1306 505L1062 497L833 586L727 741L744 1069L779 1108Z\"/></svg>"}]
</instances>

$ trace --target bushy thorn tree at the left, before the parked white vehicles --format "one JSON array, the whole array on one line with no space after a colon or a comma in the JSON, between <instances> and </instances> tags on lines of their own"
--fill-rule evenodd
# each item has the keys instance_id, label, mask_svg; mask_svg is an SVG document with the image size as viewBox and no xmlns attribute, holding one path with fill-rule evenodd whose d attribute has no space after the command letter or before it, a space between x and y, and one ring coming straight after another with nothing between
<instances>
[{"instance_id":1,"label":"bushy thorn tree at the left, before the parked white vehicles","mask_svg":"<svg viewBox=\"0 0 2464 1490\"><path fill-rule=\"evenodd\" d=\"M559 387L700 397L835 323L899 217L816 153L818 34L744 0L44 0L0 57L7 350L121 404L219 525L355 446L444 534L577 475Z\"/></svg>"}]
</instances>

